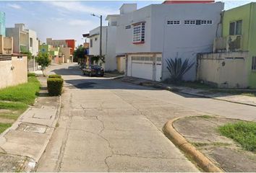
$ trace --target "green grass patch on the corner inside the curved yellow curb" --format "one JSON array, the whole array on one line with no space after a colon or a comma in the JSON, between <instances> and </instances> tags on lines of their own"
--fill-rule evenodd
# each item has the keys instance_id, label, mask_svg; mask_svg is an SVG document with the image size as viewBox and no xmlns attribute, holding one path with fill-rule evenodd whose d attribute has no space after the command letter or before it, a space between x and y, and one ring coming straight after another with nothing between
<instances>
[{"instance_id":1,"label":"green grass patch on the corner inside the curved yellow curb","mask_svg":"<svg viewBox=\"0 0 256 173\"><path fill-rule=\"evenodd\" d=\"M232 138L247 151L256 151L256 123L228 123L218 128L221 135Z\"/></svg>"}]
</instances>

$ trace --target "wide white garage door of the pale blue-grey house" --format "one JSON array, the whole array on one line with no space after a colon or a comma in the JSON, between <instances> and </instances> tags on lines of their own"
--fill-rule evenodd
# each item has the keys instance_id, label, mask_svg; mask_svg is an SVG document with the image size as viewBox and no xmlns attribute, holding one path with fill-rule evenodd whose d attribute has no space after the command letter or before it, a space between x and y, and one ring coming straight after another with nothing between
<instances>
[{"instance_id":1,"label":"wide white garage door of the pale blue-grey house","mask_svg":"<svg viewBox=\"0 0 256 173\"><path fill-rule=\"evenodd\" d=\"M161 79L161 62L159 58L149 56L132 56L131 76L160 81Z\"/></svg>"}]
</instances>

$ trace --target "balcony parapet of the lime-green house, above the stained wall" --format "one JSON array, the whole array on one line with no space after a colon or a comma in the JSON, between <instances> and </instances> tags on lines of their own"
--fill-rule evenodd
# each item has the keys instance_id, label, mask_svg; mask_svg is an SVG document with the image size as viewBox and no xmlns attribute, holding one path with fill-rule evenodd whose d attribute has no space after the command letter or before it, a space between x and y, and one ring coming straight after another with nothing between
<instances>
[{"instance_id":1,"label":"balcony parapet of the lime-green house, above the stained wall","mask_svg":"<svg viewBox=\"0 0 256 173\"><path fill-rule=\"evenodd\" d=\"M242 50L242 35L217 37L213 42L213 52L237 52Z\"/></svg>"}]
</instances>

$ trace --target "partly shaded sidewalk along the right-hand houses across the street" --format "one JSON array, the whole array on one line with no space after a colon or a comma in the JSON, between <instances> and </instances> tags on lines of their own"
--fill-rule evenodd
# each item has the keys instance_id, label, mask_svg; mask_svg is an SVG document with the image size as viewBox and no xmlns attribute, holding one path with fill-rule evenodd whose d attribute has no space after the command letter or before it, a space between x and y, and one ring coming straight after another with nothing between
<instances>
[{"instance_id":1,"label":"partly shaded sidewalk along the right-hand houses across the street","mask_svg":"<svg viewBox=\"0 0 256 173\"><path fill-rule=\"evenodd\" d=\"M218 93L211 93L208 92L207 89L193 89L185 86L173 86L171 84L163 84L158 81L150 81L146 79L138 79L138 78L133 78L129 76L125 76L122 79L119 79L124 82L129 82L132 84L138 84L142 86L150 86L150 87L155 87L158 89L166 89L168 91L173 91L173 92L180 92L183 94L190 94L194 95L197 97L206 97L206 98L211 98L211 99L218 99L226 102L234 102L238 104L243 104L243 105L249 105L249 106L255 106L256 107L256 97L249 97L249 96L244 96L244 95L239 95L239 94L227 94L223 92L218 92Z\"/></svg>"}]
</instances>

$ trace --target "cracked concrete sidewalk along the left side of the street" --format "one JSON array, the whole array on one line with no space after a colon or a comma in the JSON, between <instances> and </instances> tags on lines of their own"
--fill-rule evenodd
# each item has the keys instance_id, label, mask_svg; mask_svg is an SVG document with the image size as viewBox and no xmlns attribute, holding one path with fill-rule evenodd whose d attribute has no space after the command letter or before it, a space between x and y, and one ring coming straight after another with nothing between
<instances>
[{"instance_id":1,"label":"cracked concrete sidewalk along the left side of the street","mask_svg":"<svg viewBox=\"0 0 256 173\"><path fill-rule=\"evenodd\" d=\"M0 135L0 172L31 172L43 154L57 122L60 97L46 97L46 77L35 104Z\"/></svg>"}]
</instances>

